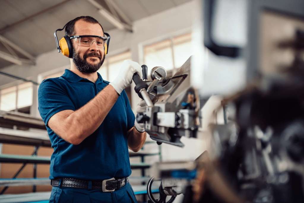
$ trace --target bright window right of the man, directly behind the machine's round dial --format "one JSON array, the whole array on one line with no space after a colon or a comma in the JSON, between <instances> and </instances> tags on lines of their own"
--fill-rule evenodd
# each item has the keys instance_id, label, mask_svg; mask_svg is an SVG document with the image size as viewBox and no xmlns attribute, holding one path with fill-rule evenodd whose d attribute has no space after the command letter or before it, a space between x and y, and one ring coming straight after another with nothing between
<instances>
[{"instance_id":1,"label":"bright window right of the man, directly behind the machine's round dial","mask_svg":"<svg viewBox=\"0 0 304 203\"><path fill-rule=\"evenodd\" d=\"M187 33L145 46L144 64L148 73L155 66L169 71L181 67L191 55L191 33Z\"/></svg>"}]
</instances>

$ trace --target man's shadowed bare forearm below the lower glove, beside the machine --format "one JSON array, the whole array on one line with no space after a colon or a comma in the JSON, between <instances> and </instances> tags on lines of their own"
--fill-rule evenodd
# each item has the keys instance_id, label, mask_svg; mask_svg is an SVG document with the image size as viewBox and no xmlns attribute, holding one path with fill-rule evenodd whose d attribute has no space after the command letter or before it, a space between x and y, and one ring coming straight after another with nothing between
<instances>
[{"instance_id":1,"label":"man's shadowed bare forearm below the lower glove, beside the machine","mask_svg":"<svg viewBox=\"0 0 304 203\"><path fill-rule=\"evenodd\" d=\"M128 147L133 152L138 152L146 141L147 133L138 132L135 126L128 131Z\"/></svg>"}]
</instances>

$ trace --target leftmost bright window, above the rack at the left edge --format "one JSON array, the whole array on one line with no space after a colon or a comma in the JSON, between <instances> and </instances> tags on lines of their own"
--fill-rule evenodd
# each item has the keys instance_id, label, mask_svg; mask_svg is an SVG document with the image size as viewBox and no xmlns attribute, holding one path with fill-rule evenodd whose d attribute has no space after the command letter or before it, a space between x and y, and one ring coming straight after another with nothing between
<instances>
[{"instance_id":1,"label":"leftmost bright window, above the rack at the left edge","mask_svg":"<svg viewBox=\"0 0 304 203\"><path fill-rule=\"evenodd\" d=\"M0 90L0 110L29 113L33 104L33 83L25 82Z\"/></svg>"}]
</instances>

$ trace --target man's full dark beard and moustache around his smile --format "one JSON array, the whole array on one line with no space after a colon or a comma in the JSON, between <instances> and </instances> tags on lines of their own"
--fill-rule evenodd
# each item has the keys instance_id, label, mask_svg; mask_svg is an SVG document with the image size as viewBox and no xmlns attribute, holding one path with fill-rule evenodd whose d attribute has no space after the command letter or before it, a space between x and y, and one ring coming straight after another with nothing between
<instances>
[{"instance_id":1,"label":"man's full dark beard and moustache around his smile","mask_svg":"<svg viewBox=\"0 0 304 203\"><path fill-rule=\"evenodd\" d=\"M98 57L99 63L98 64L90 64L87 62L88 57ZM96 59L93 59L92 61L95 61ZM101 57L96 52L90 52L88 54L83 55L83 59L80 58L79 52L76 53L76 51L73 49L73 62L77 68L78 71L84 74L94 73L98 71L98 69L103 64L103 61L105 60L105 55Z\"/></svg>"}]
</instances>

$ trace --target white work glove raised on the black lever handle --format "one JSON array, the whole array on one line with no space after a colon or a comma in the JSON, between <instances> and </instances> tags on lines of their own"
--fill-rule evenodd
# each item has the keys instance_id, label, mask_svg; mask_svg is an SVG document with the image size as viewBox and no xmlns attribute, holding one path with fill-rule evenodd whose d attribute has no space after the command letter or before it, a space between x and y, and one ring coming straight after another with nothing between
<instances>
[{"instance_id":1,"label":"white work glove raised on the black lever handle","mask_svg":"<svg viewBox=\"0 0 304 203\"><path fill-rule=\"evenodd\" d=\"M136 72L142 77L142 68L140 64L131 60L124 60L117 77L109 84L112 85L120 95L123 89L132 83L133 74Z\"/></svg>"}]
</instances>

